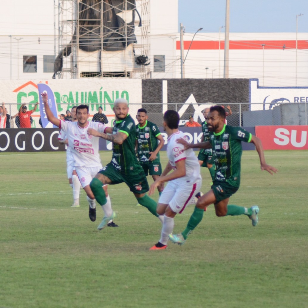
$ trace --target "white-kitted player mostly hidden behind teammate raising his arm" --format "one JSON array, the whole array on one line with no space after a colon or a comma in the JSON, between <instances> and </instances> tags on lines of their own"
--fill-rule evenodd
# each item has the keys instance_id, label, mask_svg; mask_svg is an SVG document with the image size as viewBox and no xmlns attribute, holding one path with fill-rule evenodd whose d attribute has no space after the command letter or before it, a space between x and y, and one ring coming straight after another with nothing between
<instances>
[{"instance_id":1,"label":"white-kitted player mostly hidden behind teammate raising his arm","mask_svg":"<svg viewBox=\"0 0 308 308\"><path fill-rule=\"evenodd\" d=\"M72 110L71 110L72 122L77 121L76 108L77 106L74 106L72 107ZM66 144L67 146L67 149L66 149L67 178L68 178L68 182L71 188L73 188L73 199L74 199L71 207L79 207L79 194L80 194L80 187L82 186L80 184L77 172L74 168L74 158L72 155L72 147L68 145L67 136L65 132L63 132L62 129L59 132L58 140L60 144Z\"/></svg>"}]
</instances>

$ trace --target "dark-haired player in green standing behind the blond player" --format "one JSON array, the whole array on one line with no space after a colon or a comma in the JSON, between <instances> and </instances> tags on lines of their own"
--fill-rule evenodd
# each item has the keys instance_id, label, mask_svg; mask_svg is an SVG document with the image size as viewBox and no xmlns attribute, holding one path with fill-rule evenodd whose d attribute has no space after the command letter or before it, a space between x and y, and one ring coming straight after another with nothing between
<instances>
[{"instance_id":1,"label":"dark-haired player in green standing behind the blond player","mask_svg":"<svg viewBox=\"0 0 308 308\"><path fill-rule=\"evenodd\" d=\"M162 172L159 151L164 146L165 140L157 125L148 121L146 109L138 109L137 121L139 123L136 125L137 157L145 175L150 174L153 180L156 181ZM157 190L161 195L161 186L158 186Z\"/></svg>"}]
</instances>

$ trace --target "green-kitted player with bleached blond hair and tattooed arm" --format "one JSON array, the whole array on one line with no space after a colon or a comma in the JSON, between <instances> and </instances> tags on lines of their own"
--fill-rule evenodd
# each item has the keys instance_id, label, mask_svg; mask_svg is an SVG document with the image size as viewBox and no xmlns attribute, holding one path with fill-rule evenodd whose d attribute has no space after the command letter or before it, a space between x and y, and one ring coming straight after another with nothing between
<instances>
[{"instance_id":1,"label":"green-kitted player with bleached blond hair and tattooed arm","mask_svg":"<svg viewBox=\"0 0 308 308\"><path fill-rule=\"evenodd\" d=\"M115 113L114 127L107 127L103 133L95 129L88 129L88 134L99 136L112 142L112 159L101 169L90 183L91 190L96 201L100 205L107 202L102 188L106 184L126 183L130 191L135 195L139 204L146 207L153 215L163 221L163 216L156 213L156 202L146 192L149 190L147 178L135 152L136 125L133 118L128 114L128 102L126 99L116 99L113 111ZM107 222L115 217L111 206L104 207L105 216L97 229L105 228ZM113 218L111 218L113 217Z\"/></svg>"}]
</instances>

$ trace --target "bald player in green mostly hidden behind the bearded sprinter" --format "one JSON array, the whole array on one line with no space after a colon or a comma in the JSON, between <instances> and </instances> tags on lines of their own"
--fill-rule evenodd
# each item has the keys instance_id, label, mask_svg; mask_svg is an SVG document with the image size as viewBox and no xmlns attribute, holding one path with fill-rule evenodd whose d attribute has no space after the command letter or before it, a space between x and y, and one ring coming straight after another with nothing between
<instances>
[{"instance_id":1,"label":"bald player in green mostly hidden behind the bearded sprinter","mask_svg":"<svg viewBox=\"0 0 308 308\"><path fill-rule=\"evenodd\" d=\"M205 108L203 110L203 116L205 118L205 121L201 123L202 127L202 132L203 132L203 138L204 141L209 141L210 140L210 132L208 130L208 124L207 124L207 119L208 119L208 114L209 114L210 108ZM199 154L198 154L198 160L199 164L201 167L208 167L210 175L212 177L212 181L214 180L215 177L215 156L213 155L213 150L212 148L209 149L201 149Z\"/></svg>"}]
</instances>

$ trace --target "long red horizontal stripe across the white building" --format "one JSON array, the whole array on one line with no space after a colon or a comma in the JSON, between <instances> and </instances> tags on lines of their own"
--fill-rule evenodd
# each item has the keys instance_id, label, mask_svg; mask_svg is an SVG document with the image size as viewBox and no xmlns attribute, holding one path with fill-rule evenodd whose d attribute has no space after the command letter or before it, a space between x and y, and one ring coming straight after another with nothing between
<instances>
[{"instance_id":1,"label":"long red horizontal stripe across the white building","mask_svg":"<svg viewBox=\"0 0 308 308\"><path fill-rule=\"evenodd\" d=\"M191 41L184 41L184 50L188 50ZM229 41L229 49L295 49L296 41ZM220 49L225 48L225 42L220 41ZM308 41L298 40L297 41L298 49L308 49ZM176 49L180 50L181 45L180 41L176 41ZM218 50L219 41L193 41L190 49L195 50Z\"/></svg>"}]
</instances>

